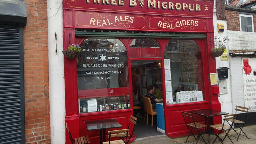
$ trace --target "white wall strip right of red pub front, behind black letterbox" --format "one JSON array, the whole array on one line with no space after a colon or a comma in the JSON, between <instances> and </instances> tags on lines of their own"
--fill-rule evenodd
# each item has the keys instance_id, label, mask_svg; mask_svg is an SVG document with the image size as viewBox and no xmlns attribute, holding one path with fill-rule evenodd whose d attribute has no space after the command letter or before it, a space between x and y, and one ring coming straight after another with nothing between
<instances>
[{"instance_id":1,"label":"white wall strip right of red pub front, behind black letterbox","mask_svg":"<svg viewBox=\"0 0 256 144\"><path fill-rule=\"evenodd\" d=\"M216 1L214 1L214 9L213 9L214 12L216 12L216 3L215 2ZM218 32L217 23L224 24L224 32ZM213 27L214 27L214 37L215 36L220 37L220 41L222 41L224 37L228 37L227 21L226 20L217 20L216 13L214 13L214 15L213 15ZM229 42L224 43L224 45L227 47L227 52L228 52ZM221 61L221 57L216 57L216 68L219 68L219 67L228 67L229 68L229 61ZM216 73L217 73L217 70L216 70ZM227 112L227 113L232 113L233 106L232 106L231 87L230 87L230 72L229 72L229 78L226 79L226 81L227 81L228 93L221 94L219 97L219 102L221 103L221 111Z\"/></svg>"}]
</instances>

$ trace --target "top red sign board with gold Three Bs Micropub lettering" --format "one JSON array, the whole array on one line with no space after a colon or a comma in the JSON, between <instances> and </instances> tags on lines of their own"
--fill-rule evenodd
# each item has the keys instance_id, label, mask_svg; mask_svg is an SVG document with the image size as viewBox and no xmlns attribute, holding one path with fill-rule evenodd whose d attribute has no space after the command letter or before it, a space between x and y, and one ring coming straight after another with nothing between
<instances>
[{"instance_id":1,"label":"top red sign board with gold Three Bs Micropub lettering","mask_svg":"<svg viewBox=\"0 0 256 144\"><path fill-rule=\"evenodd\" d=\"M64 9L125 14L213 17L213 0L63 0Z\"/></svg>"}]
</instances>

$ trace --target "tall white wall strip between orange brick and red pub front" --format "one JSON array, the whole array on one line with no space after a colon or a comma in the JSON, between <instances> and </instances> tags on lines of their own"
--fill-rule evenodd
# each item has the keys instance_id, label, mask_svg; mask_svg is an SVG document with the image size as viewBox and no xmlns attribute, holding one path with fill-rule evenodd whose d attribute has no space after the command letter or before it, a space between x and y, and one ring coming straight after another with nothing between
<instances>
[{"instance_id":1,"label":"tall white wall strip between orange brick and red pub front","mask_svg":"<svg viewBox=\"0 0 256 144\"><path fill-rule=\"evenodd\" d=\"M51 144L65 144L62 0L47 0ZM57 55L55 53L57 33Z\"/></svg>"}]
</instances>

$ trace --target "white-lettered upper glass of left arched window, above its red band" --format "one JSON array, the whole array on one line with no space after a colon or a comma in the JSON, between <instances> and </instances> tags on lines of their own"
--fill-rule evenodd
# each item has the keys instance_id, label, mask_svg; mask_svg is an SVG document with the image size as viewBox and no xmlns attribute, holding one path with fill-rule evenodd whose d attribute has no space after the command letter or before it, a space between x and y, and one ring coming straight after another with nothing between
<instances>
[{"instance_id":1,"label":"white-lettered upper glass of left arched window, above its red band","mask_svg":"<svg viewBox=\"0 0 256 144\"><path fill-rule=\"evenodd\" d=\"M114 38L88 38L77 58L78 90L120 88L128 85L128 57Z\"/></svg>"}]
</instances>

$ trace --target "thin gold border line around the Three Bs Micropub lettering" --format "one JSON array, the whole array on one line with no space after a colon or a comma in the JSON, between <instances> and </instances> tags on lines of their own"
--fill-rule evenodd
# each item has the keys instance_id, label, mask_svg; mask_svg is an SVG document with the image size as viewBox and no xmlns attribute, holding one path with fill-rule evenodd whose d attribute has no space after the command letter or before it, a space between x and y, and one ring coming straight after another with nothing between
<instances>
[{"instance_id":1,"label":"thin gold border line around the Three Bs Micropub lettering","mask_svg":"<svg viewBox=\"0 0 256 144\"><path fill-rule=\"evenodd\" d=\"M191 0L191 1L203 1L203 0ZM209 2L209 1L203 1L203 2ZM210 3L210 2L209 2ZM68 0L66 0L66 4L69 5L70 8L83 8L83 9L94 9L94 10L112 10L112 11L125 11L125 12L131 12L131 11L127 11L127 10L115 10L115 9L97 9L97 8L85 8L85 7L78 7L78 6L71 6L68 3ZM211 8L212 8L212 4L210 3ZM142 11L132 11L132 12L139 12L139 13L154 13L154 14L170 14L170 13L159 13L159 12L142 12ZM188 15L188 16L210 16L212 14L212 10L211 13L209 15L188 15L188 14L175 14L175 13L171 13L171 15Z\"/></svg>"}]
</instances>

